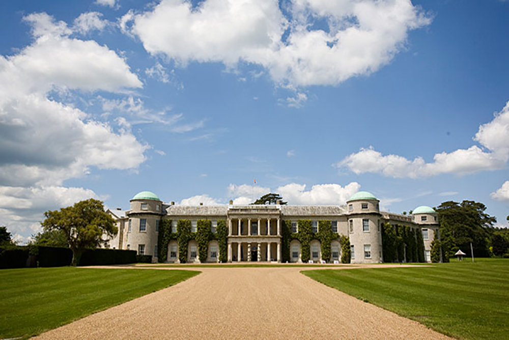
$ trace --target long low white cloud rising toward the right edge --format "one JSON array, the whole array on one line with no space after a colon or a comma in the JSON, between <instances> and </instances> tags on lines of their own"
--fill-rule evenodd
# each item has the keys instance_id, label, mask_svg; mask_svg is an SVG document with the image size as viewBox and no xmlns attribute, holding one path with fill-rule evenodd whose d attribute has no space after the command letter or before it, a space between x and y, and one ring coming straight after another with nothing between
<instances>
[{"instance_id":1,"label":"long low white cloud rising toward the right edge","mask_svg":"<svg viewBox=\"0 0 509 340\"><path fill-rule=\"evenodd\" d=\"M509 160L509 102L491 122L479 126L473 139L483 148L474 145L468 149L438 153L432 163L427 163L422 157L410 160L399 155L382 155L370 147L362 148L334 165L346 167L355 174L378 173L395 178L466 175L503 168Z\"/></svg>"}]
</instances>

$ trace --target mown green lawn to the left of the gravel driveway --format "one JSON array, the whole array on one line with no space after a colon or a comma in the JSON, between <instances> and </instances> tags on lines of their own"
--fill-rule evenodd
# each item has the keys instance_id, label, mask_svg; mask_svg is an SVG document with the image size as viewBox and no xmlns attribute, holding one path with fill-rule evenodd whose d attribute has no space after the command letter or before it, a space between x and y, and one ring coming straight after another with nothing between
<instances>
[{"instance_id":1,"label":"mown green lawn to the left of the gravel driveway","mask_svg":"<svg viewBox=\"0 0 509 340\"><path fill-rule=\"evenodd\" d=\"M198 273L73 267L2 269L0 338L36 335Z\"/></svg>"}]
</instances>

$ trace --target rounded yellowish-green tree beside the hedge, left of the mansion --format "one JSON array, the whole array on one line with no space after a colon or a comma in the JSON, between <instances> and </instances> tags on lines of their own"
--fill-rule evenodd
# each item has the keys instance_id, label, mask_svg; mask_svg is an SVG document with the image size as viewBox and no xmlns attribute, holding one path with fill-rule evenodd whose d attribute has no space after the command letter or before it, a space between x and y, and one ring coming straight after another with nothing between
<instances>
[{"instance_id":1,"label":"rounded yellowish-green tree beside the hedge, left of the mansion","mask_svg":"<svg viewBox=\"0 0 509 340\"><path fill-rule=\"evenodd\" d=\"M115 220L104 211L101 201L90 199L75 203L60 211L46 211L41 222L45 232L62 231L72 250L72 265L77 266L86 248L96 248L102 243L102 236L113 237L118 229Z\"/></svg>"}]
</instances>

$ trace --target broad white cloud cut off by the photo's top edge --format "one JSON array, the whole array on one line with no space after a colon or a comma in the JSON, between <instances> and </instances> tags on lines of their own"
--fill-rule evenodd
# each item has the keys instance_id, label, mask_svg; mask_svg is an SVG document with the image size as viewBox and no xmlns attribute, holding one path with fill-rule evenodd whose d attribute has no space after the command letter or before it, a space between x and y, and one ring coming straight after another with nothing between
<instances>
[{"instance_id":1,"label":"broad white cloud cut off by the photo's top edge","mask_svg":"<svg viewBox=\"0 0 509 340\"><path fill-rule=\"evenodd\" d=\"M377 71L431 18L410 0L296 0L283 14L272 0L163 0L119 25L151 54L177 63L261 65L277 83L338 84ZM133 21L131 27L127 22ZM325 28L314 28L316 21Z\"/></svg>"}]
</instances>

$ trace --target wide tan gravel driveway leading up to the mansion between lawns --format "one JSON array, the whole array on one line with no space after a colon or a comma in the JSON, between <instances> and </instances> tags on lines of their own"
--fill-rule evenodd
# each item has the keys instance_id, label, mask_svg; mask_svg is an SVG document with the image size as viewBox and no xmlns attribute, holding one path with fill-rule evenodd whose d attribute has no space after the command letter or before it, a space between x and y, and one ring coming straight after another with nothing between
<instances>
[{"instance_id":1,"label":"wide tan gravel driveway leading up to the mansion between lawns","mask_svg":"<svg viewBox=\"0 0 509 340\"><path fill-rule=\"evenodd\" d=\"M447 338L415 321L319 284L299 273L303 268L196 269L202 273L176 286L38 338Z\"/></svg>"}]
</instances>

